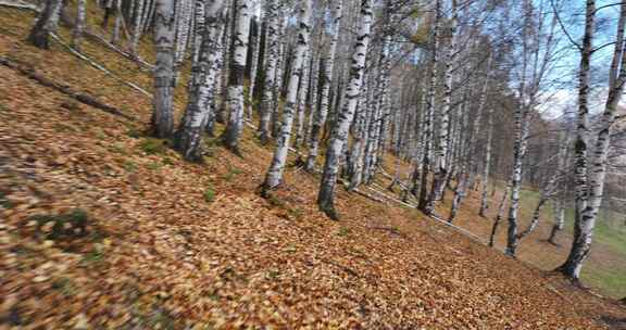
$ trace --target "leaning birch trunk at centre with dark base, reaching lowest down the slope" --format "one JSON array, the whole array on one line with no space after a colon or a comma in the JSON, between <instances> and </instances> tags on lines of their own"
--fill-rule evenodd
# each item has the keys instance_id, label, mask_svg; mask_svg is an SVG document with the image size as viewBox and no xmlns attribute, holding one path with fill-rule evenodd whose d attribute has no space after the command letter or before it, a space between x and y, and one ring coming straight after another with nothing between
<instances>
[{"instance_id":1,"label":"leaning birch trunk at centre with dark base, reaching lowest down the slope","mask_svg":"<svg viewBox=\"0 0 626 330\"><path fill-rule=\"evenodd\" d=\"M365 60L370 46L372 23L374 14L372 11L372 0L362 0L361 2L361 26L356 35L356 45L352 56L352 67L350 71L350 81L346 90L346 99L341 112L337 116L335 129L326 152L324 173L317 195L317 205L320 210L326 213L331 219L339 219L335 210L335 186L337 183L337 174L339 173L339 157L348 141L350 125L354 118L354 111L359 102L361 86L365 72Z\"/></svg>"}]
</instances>

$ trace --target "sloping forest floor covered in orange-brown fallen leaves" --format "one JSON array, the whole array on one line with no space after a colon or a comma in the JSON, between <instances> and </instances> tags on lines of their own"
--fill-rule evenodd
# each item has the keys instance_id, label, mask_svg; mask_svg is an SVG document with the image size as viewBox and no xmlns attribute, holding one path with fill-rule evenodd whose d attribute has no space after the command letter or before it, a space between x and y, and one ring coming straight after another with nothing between
<instances>
[{"instance_id":1,"label":"sloping forest floor covered in orange-brown fallen leaves","mask_svg":"<svg viewBox=\"0 0 626 330\"><path fill-rule=\"evenodd\" d=\"M414 208L340 190L331 221L296 167L260 198L272 149L250 129L243 157L209 139L205 164L181 161L142 134L149 97L27 46L32 18L0 8L0 56L132 118L0 65L0 329L625 329L616 302ZM150 91L134 62L82 51ZM472 203L459 223L489 224Z\"/></svg>"}]
</instances>

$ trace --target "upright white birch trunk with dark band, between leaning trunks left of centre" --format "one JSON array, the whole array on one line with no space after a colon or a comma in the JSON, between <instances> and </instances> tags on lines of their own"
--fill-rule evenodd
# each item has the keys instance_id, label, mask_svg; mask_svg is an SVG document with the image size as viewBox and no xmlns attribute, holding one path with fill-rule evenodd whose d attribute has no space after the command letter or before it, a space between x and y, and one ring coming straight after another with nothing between
<instances>
[{"instance_id":1,"label":"upright white birch trunk with dark band, between leaning trunks left of centre","mask_svg":"<svg viewBox=\"0 0 626 330\"><path fill-rule=\"evenodd\" d=\"M223 140L226 148L236 154L239 151L239 138L243 130L243 76L248 56L248 41L250 37L250 3L236 0L237 17L236 30L233 34L234 53L230 59L230 74L228 76L228 107L230 117L224 131Z\"/></svg>"}]
</instances>

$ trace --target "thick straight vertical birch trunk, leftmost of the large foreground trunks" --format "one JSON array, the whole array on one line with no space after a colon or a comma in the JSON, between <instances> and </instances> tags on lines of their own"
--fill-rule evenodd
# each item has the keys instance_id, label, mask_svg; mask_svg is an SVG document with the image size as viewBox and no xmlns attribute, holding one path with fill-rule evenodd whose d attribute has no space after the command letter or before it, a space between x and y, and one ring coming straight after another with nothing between
<instances>
[{"instance_id":1,"label":"thick straight vertical birch trunk, leftmost of the large foreground trunks","mask_svg":"<svg viewBox=\"0 0 626 330\"><path fill-rule=\"evenodd\" d=\"M174 131L174 0L156 0L154 47L154 110L152 132L159 138L170 138Z\"/></svg>"}]
</instances>

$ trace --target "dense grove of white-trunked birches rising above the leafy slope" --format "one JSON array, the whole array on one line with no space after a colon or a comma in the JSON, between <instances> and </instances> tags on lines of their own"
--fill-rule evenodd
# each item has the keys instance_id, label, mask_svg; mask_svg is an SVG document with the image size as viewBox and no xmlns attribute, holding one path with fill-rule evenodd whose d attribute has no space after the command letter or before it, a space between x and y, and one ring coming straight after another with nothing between
<instances>
[{"instance_id":1,"label":"dense grove of white-trunked birches rising above the leafy slope","mask_svg":"<svg viewBox=\"0 0 626 330\"><path fill-rule=\"evenodd\" d=\"M600 212L616 208L625 3L66 2L41 2L30 45L87 56L95 39L133 61L152 79L135 86L152 98L147 135L198 166L213 145L263 162L270 201L306 176L309 203L334 220L350 212L337 198L359 195L463 230L480 221L510 257L533 237L572 238L556 270L575 281Z\"/></svg>"}]
</instances>

